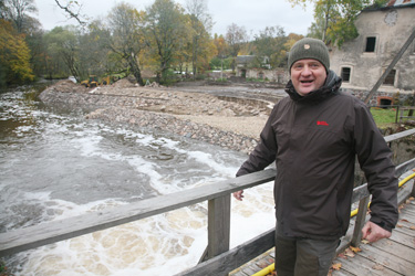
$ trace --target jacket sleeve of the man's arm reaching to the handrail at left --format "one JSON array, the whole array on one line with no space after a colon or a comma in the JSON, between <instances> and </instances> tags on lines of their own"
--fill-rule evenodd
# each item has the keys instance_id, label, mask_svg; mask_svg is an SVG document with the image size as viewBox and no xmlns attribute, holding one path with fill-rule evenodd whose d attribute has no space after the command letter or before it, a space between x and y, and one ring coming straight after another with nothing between
<instances>
[{"instance_id":1,"label":"jacket sleeve of the man's arm reaching to the handrail at left","mask_svg":"<svg viewBox=\"0 0 415 276\"><path fill-rule=\"evenodd\" d=\"M272 121L277 107L273 108L269 116L266 126L260 134L260 140L253 151L249 155L247 161L242 163L237 172L237 177L245 176L251 172L260 171L267 168L271 162L276 160L277 155L277 139L272 128Z\"/></svg>"}]
</instances>

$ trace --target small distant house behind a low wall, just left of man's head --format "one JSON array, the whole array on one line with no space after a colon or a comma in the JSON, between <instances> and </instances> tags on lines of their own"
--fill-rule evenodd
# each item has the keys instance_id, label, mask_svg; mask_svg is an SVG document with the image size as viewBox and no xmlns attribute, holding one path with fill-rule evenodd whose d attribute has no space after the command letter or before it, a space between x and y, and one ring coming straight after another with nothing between
<instances>
[{"instance_id":1,"label":"small distant house behind a low wall, just left of man's head","mask_svg":"<svg viewBox=\"0 0 415 276\"><path fill-rule=\"evenodd\" d=\"M269 57L256 55L238 55L236 59L236 76L241 78L268 79L277 83L287 81L283 70L272 70Z\"/></svg>"}]
</instances>

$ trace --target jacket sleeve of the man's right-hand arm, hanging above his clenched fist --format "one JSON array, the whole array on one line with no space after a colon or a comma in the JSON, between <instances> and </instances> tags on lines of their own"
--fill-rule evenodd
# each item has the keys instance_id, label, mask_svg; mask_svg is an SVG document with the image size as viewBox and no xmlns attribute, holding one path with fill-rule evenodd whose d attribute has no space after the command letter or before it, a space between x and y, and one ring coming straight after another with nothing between
<instances>
[{"instance_id":1,"label":"jacket sleeve of the man's right-hand arm, hanging above his clenched fist","mask_svg":"<svg viewBox=\"0 0 415 276\"><path fill-rule=\"evenodd\" d=\"M353 132L359 163L372 194L371 221L392 232L398 220L395 166L391 160L391 149L363 103L355 106Z\"/></svg>"}]
</instances>

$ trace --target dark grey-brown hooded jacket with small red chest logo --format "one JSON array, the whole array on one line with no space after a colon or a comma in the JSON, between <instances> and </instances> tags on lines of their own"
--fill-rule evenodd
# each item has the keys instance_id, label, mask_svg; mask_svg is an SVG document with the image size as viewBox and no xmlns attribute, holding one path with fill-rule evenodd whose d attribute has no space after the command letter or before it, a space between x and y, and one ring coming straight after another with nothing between
<instances>
[{"instance_id":1,"label":"dark grey-brown hooded jacket with small red chest logo","mask_svg":"<svg viewBox=\"0 0 415 276\"><path fill-rule=\"evenodd\" d=\"M398 217L397 180L391 150L367 107L339 92L330 72L326 84L301 97L288 83L260 142L237 176L277 164L274 200L279 229L287 236L338 238L351 213L355 156L373 195L371 221L392 231Z\"/></svg>"}]
</instances>

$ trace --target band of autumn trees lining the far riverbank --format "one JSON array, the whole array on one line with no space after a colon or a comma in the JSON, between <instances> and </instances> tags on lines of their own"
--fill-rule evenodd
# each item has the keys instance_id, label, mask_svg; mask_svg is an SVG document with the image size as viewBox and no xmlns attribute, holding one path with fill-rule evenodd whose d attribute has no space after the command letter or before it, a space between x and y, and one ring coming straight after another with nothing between
<instances>
[{"instance_id":1,"label":"band of autumn trees lining the far riverbank","mask_svg":"<svg viewBox=\"0 0 415 276\"><path fill-rule=\"evenodd\" d=\"M350 1L317 2L315 11L331 6L328 10L333 14L324 14L330 24L319 28L313 23L310 35L334 38L323 34L335 34L335 22L353 22L350 14L373 2L360 0L359 4L347 6ZM79 12L82 1L55 0L55 4L69 18L77 19L79 25L43 30L35 18L34 0L0 1L0 86L42 77L73 76L81 82L90 75L98 76L100 82L108 76L132 75L141 85L149 77L168 84L203 78L214 70L235 70L238 55L268 56L267 66L284 67L287 51L303 36L286 34L278 25L248 35L246 26L235 23L225 34L212 34L207 0L187 0L184 6L174 0L154 0L144 10L120 2L100 19L83 17ZM347 18L343 19L339 10L344 9L350 14L344 13Z\"/></svg>"}]
</instances>

